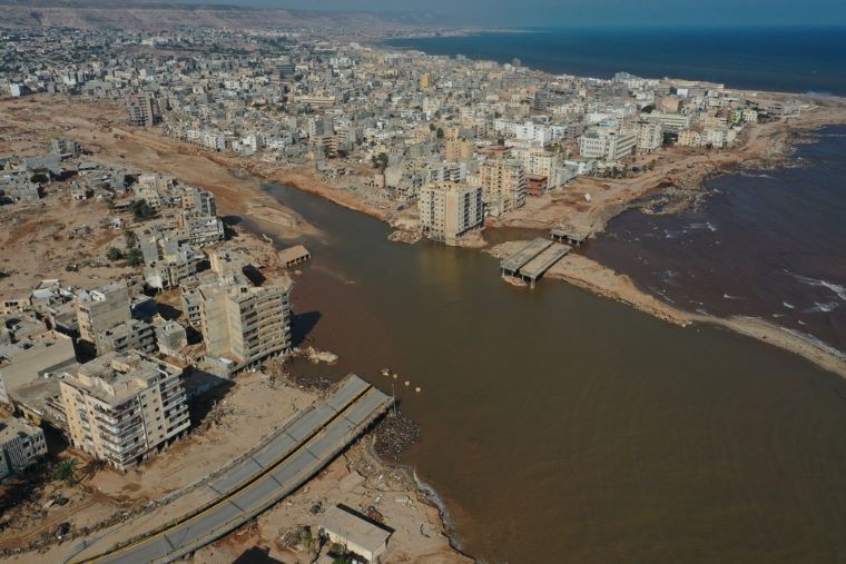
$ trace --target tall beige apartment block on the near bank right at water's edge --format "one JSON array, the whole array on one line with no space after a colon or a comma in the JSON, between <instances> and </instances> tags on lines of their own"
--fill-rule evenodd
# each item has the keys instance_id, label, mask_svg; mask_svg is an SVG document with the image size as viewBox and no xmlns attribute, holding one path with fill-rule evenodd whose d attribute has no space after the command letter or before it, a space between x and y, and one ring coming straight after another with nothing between
<instances>
[{"instance_id":1,"label":"tall beige apartment block on the near bank right at water's edge","mask_svg":"<svg viewBox=\"0 0 846 564\"><path fill-rule=\"evenodd\" d=\"M239 369L291 348L288 287L239 281L200 286L198 291L200 329L209 355L228 358Z\"/></svg>"}]
</instances>

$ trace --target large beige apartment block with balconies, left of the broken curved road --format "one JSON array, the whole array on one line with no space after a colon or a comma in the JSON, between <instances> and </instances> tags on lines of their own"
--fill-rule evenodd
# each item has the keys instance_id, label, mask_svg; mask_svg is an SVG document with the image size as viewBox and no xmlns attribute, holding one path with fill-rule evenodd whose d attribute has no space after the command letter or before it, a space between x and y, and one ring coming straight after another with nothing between
<instances>
[{"instance_id":1,"label":"large beige apartment block with balconies, left of the broken curved road","mask_svg":"<svg viewBox=\"0 0 846 564\"><path fill-rule=\"evenodd\" d=\"M109 353L67 374L61 400L77 448L120 471L190 425L181 370L136 350Z\"/></svg>"}]
</instances>

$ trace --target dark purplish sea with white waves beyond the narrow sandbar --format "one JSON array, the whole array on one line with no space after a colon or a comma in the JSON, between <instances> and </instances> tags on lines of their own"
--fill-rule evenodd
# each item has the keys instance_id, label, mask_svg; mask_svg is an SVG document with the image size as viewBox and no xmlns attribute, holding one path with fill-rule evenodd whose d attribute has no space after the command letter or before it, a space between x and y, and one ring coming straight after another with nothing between
<instances>
[{"instance_id":1,"label":"dark purplish sea with white waves beyond the narrow sandbar","mask_svg":"<svg viewBox=\"0 0 846 564\"><path fill-rule=\"evenodd\" d=\"M584 248L689 311L755 317L846 350L846 127L793 164L708 180L678 214L629 210Z\"/></svg>"}]
</instances>

